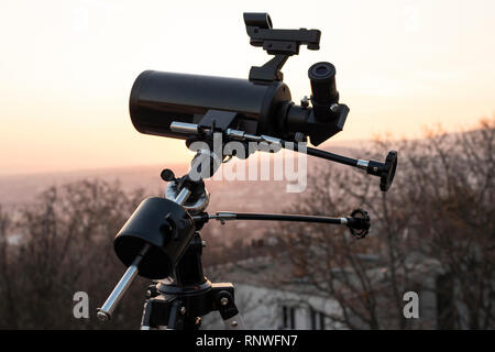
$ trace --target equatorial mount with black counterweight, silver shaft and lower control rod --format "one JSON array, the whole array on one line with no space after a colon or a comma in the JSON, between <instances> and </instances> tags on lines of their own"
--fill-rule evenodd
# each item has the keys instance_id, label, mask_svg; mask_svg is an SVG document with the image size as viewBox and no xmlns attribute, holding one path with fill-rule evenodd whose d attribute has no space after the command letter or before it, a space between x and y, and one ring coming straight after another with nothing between
<instances>
[{"instance_id":1,"label":"equatorial mount with black counterweight, silver shaft and lower control rod","mask_svg":"<svg viewBox=\"0 0 495 352\"><path fill-rule=\"evenodd\" d=\"M222 223L229 220L267 220L340 224L348 227L356 239L369 232L370 217L362 209L342 218L230 211L209 215L202 211L208 202L205 182L190 176L198 166L195 160L205 155L210 155L210 152L198 152L191 169L180 178L175 177L170 169L164 169L161 176L168 182L165 195L169 198L143 200L117 234L116 254L128 270L103 306L98 308L99 319L111 318L131 283L141 275L152 279L164 278L150 288L142 329L163 326L198 329L199 317L212 310L220 311L227 328L243 328L233 302L232 284L212 284L202 273L200 255L205 243L199 230L210 220ZM199 206L189 205L188 210L190 199L196 199L193 204Z\"/></svg>"}]
</instances>

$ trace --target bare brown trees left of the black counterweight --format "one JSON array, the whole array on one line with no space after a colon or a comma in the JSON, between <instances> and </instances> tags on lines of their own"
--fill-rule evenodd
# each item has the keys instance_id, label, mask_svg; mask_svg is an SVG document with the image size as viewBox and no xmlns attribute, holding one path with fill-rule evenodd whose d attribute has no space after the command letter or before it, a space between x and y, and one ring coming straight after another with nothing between
<instances>
[{"instance_id":1,"label":"bare brown trees left of the black counterweight","mask_svg":"<svg viewBox=\"0 0 495 352\"><path fill-rule=\"evenodd\" d=\"M101 326L96 308L105 301L122 272L112 240L143 198L118 184L82 180L44 191L19 211L12 231L19 244L8 244L7 217L0 217L0 326L3 328L135 328L144 301L139 279L114 319ZM73 296L86 292L90 318L76 319Z\"/></svg>"}]
</instances>

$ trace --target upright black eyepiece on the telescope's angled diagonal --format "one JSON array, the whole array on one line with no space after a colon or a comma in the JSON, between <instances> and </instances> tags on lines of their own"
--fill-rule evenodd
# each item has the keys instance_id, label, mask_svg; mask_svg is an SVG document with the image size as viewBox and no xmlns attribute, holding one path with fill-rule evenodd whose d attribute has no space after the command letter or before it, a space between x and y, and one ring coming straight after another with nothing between
<instances>
[{"instance_id":1,"label":"upright black eyepiece on the telescope's angled diagonal","mask_svg":"<svg viewBox=\"0 0 495 352\"><path fill-rule=\"evenodd\" d=\"M308 69L311 82L311 103L318 120L330 119L330 107L339 102L336 85L336 66L330 63L316 63Z\"/></svg>"}]
</instances>

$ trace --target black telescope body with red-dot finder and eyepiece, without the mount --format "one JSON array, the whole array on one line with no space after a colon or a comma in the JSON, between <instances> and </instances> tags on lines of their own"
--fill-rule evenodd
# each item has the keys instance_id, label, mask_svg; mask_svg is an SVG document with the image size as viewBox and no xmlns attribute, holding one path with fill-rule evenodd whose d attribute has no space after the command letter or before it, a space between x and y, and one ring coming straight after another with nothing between
<instances>
[{"instance_id":1,"label":"black telescope body with red-dot finder and eyepiece, without the mount","mask_svg":"<svg viewBox=\"0 0 495 352\"><path fill-rule=\"evenodd\" d=\"M249 79L187 75L146 70L135 80L129 103L131 120L142 133L187 139L170 128L172 122L208 124L207 112L218 127L242 130L295 141L296 134L308 136L318 145L342 130L349 108L339 105L336 67L317 63L308 70L312 109L297 106L283 82L282 66L306 44L318 50L318 30L273 30L265 13L244 13L251 44L263 46L274 55L262 67L252 67Z\"/></svg>"}]
</instances>

